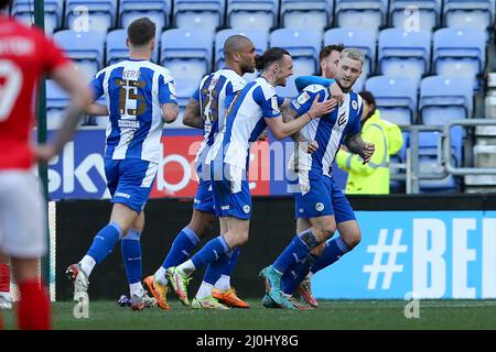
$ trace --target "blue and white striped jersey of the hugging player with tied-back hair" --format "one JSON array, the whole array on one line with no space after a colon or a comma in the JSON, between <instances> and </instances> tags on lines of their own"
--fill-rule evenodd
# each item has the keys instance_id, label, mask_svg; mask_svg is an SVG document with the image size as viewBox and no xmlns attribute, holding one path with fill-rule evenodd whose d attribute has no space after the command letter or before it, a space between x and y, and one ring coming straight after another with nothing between
<instances>
[{"instance_id":1,"label":"blue and white striped jersey of the hugging player with tied-back hair","mask_svg":"<svg viewBox=\"0 0 496 352\"><path fill-rule=\"evenodd\" d=\"M215 139L209 160L222 157L223 163L246 169L249 143L257 141L267 128L265 118L281 116L279 107L283 101L263 77L247 84L236 95L227 112L226 122Z\"/></svg>"}]
</instances>

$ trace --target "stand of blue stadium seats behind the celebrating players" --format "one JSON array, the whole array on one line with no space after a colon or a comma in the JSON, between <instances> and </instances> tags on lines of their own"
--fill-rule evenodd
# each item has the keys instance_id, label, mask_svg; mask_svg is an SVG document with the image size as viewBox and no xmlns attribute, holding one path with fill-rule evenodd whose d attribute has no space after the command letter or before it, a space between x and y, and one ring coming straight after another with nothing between
<instances>
[{"instance_id":1,"label":"stand of blue stadium seats behind the celebrating players","mask_svg":"<svg viewBox=\"0 0 496 352\"><path fill-rule=\"evenodd\" d=\"M89 79L104 64L127 57L126 26L138 16L150 16L158 25L152 59L173 74L181 109L203 75L224 65L223 45L231 34L249 36L257 53L278 45L293 54L294 77L277 88L287 98L295 95L298 75L319 73L321 45L343 43L364 52L364 74L355 90L373 91L385 119L402 125L440 125L460 118L496 117L490 85L486 110L477 108L486 94L487 72L496 66L492 64L495 9L494 0L45 0L45 24ZM10 12L32 23L32 10L30 1L14 0ZM54 92L50 116L62 108L56 101ZM183 127L177 121L173 128ZM456 165L494 162L496 131L492 127L475 131L454 132ZM420 139L421 167L435 169L439 147L433 141L439 135L430 133ZM405 162L405 150L398 157ZM467 189L475 178L463 178ZM461 179L422 180L422 189L461 189ZM477 187L483 189L474 182L472 188Z\"/></svg>"}]
</instances>

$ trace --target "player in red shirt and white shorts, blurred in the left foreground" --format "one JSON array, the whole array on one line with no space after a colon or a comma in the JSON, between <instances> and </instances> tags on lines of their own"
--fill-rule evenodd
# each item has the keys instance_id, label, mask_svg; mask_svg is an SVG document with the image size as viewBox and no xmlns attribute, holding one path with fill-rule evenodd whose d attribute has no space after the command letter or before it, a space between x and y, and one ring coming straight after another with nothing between
<instances>
[{"instance_id":1,"label":"player in red shirt and white shorts, blurred in the left foreground","mask_svg":"<svg viewBox=\"0 0 496 352\"><path fill-rule=\"evenodd\" d=\"M0 0L0 10L10 1ZM72 99L53 144L33 150L34 92L45 74ZM20 329L51 327L48 298L37 278L37 260L46 251L45 206L32 166L62 150L90 99L75 66L42 31L0 13L0 253L10 257L20 289Z\"/></svg>"}]
</instances>

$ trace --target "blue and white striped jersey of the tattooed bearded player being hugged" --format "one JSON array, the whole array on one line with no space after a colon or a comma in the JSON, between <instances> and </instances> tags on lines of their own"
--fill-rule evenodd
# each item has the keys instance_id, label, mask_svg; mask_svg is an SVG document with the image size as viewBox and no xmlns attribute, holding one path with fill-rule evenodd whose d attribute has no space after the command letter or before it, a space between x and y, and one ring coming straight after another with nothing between
<instances>
[{"instance_id":1,"label":"blue and white striped jersey of the tattooed bearded player being hugged","mask_svg":"<svg viewBox=\"0 0 496 352\"><path fill-rule=\"evenodd\" d=\"M298 116L302 116L310 111L316 96L319 96L319 101L324 101L331 95L328 88L311 85L291 101L291 107ZM344 95L344 101L337 109L310 121L300 133L308 141L316 141L319 148L313 154L308 154L306 148L295 150L290 162L290 169L331 176L334 158L346 135L360 132L362 113L362 97L349 91Z\"/></svg>"}]
</instances>

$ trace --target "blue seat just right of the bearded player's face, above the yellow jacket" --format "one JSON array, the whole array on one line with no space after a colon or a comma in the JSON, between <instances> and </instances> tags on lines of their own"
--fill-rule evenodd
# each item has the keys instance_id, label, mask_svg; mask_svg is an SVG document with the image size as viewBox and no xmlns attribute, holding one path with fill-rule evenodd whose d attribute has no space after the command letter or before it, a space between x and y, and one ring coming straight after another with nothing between
<instances>
[{"instance_id":1,"label":"blue seat just right of the bearded player's face, above the yellow jacket","mask_svg":"<svg viewBox=\"0 0 496 352\"><path fill-rule=\"evenodd\" d=\"M376 76L367 79L366 89L374 94L384 119L400 125L414 123L418 103L414 79Z\"/></svg>"}]
</instances>

